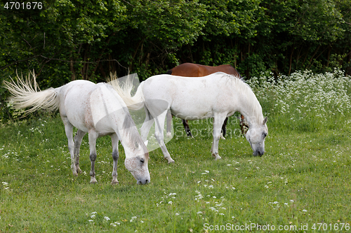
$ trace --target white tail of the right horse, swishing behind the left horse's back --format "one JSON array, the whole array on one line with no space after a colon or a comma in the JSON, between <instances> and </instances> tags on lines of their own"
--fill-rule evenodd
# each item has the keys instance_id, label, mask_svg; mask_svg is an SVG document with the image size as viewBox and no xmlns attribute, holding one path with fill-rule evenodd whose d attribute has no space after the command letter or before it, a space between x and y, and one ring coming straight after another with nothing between
<instances>
[{"instance_id":1,"label":"white tail of the right horse, swishing behind the left horse's back","mask_svg":"<svg viewBox=\"0 0 351 233\"><path fill-rule=\"evenodd\" d=\"M144 82L140 83L133 97L131 96L131 91L133 90L132 81L127 78L126 82L122 85L119 83L120 82L117 79L109 82L109 84L112 85L113 89L123 99L126 106L131 110L139 110L140 108L143 108L145 102L143 94Z\"/></svg>"}]
</instances>

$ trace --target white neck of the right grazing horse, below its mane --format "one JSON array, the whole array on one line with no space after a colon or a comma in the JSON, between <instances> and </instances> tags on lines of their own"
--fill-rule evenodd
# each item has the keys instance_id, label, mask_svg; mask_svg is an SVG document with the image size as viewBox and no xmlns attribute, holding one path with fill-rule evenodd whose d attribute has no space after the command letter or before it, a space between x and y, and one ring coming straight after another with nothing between
<instances>
[{"instance_id":1,"label":"white neck of the right grazing horse, below its mane","mask_svg":"<svg viewBox=\"0 0 351 233\"><path fill-rule=\"evenodd\" d=\"M241 88L237 95L237 99L239 99L238 111L244 115L247 124L249 126L262 124L262 107L251 88L249 86Z\"/></svg>"}]
</instances>

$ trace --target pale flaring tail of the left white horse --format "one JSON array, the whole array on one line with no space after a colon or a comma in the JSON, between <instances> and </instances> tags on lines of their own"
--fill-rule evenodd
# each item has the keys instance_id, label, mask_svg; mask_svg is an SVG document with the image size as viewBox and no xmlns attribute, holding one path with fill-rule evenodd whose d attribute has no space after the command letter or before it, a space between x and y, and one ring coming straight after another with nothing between
<instances>
[{"instance_id":1,"label":"pale flaring tail of the left white horse","mask_svg":"<svg viewBox=\"0 0 351 233\"><path fill-rule=\"evenodd\" d=\"M41 91L37 81L35 80L35 74L32 73L33 82L28 78L25 80L20 78L15 82L11 78L11 82L4 80L4 87L13 95L10 97L9 102L13 104L13 108L29 108L25 113L32 113L38 109L44 109L48 111L55 111L59 108L60 98L58 96L59 88L49 88Z\"/></svg>"}]
</instances>

